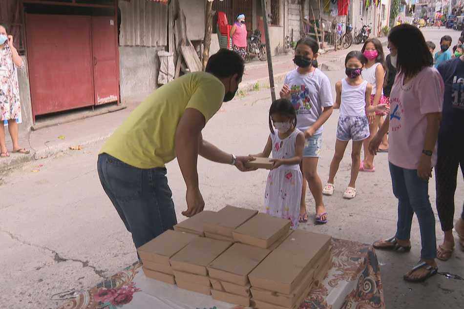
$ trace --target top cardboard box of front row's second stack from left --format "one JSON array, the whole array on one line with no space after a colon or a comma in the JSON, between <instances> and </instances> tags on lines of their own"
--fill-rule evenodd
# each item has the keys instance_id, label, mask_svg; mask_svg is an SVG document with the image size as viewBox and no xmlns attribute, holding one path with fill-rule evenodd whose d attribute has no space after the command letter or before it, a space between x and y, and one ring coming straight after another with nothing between
<instances>
[{"instance_id":1,"label":"top cardboard box of front row's second stack from left","mask_svg":"<svg viewBox=\"0 0 464 309\"><path fill-rule=\"evenodd\" d=\"M232 242L196 236L195 240L174 254L169 262L174 270L207 276L206 267L231 246Z\"/></svg>"}]
</instances>

